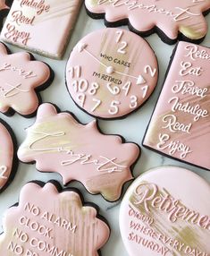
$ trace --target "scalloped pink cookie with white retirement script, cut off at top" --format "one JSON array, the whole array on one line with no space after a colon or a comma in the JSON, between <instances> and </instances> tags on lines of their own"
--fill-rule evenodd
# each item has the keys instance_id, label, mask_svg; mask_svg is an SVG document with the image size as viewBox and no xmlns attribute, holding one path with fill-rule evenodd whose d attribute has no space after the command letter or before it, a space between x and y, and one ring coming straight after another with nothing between
<instances>
[{"instance_id":1,"label":"scalloped pink cookie with white retirement script, cut off at top","mask_svg":"<svg viewBox=\"0 0 210 256\"><path fill-rule=\"evenodd\" d=\"M105 25L127 24L141 35L157 32L169 44L177 38L203 39L207 33L204 18L209 0L85 0L88 14L105 18Z\"/></svg>"}]
</instances>

